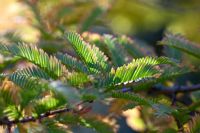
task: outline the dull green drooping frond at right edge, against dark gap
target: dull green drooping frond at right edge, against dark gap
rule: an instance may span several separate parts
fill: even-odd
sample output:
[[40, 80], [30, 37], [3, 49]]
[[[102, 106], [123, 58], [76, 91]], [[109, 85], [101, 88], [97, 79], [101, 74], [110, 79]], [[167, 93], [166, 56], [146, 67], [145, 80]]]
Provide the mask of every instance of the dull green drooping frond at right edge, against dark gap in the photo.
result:
[[200, 58], [200, 47], [180, 35], [167, 33], [165, 38], [160, 42], [162, 45], [167, 45], [175, 49], [186, 52], [194, 57]]

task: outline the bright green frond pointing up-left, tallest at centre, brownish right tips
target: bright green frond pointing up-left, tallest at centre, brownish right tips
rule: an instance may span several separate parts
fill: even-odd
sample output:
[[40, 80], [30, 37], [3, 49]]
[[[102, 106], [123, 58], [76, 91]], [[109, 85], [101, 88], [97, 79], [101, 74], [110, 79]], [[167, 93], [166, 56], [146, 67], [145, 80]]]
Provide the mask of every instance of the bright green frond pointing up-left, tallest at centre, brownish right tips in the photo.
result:
[[89, 45], [75, 32], [68, 32], [65, 36], [91, 73], [107, 72], [110, 70], [107, 57], [99, 48]]

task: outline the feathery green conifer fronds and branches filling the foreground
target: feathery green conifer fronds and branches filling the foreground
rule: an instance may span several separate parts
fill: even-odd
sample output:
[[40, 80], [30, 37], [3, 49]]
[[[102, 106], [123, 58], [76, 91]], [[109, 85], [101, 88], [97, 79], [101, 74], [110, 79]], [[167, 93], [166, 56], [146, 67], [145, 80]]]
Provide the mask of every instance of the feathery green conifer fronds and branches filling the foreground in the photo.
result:
[[[95, 41], [91, 36], [92, 33], [87, 37], [76, 32], [63, 34], [74, 56], [60, 51], [47, 54], [40, 45], [1, 43], [0, 53], [4, 58], [28, 65], [1, 71], [0, 125], [8, 132], [30, 123], [29, 129], [24, 127], [24, 130], [37, 130], [42, 125], [45, 132], [62, 133], [69, 130], [64, 125], [81, 125], [111, 133], [112, 126], [90, 116], [90, 112], [93, 102], [112, 98], [127, 101], [119, 108], [121, 111], [140, 106], [151, 108], [156, 118], [172, 117], [177, 123], [174, 132], [200, 131], [200, 101], [185, 105], [177, 97], [179, 93], [198, 91], [200, 84], [171, 87], [165, 84], [199, 71], [199, 67], [183, 65], [182, 60], [170, 54], [179, 50], [199, 60], [200, 48], [196, 44], [180, 35], [166, 33], [159, 42], [165, 47], [165, 56], [158, 57], [152, 49], [126, 36], [98, 35]], [[1, 70], [6, 66], [5, 62]], [[70, 95], [75, 91], [66, 96], [52, 84], [66, 84], [78, 91], [78, 98], [74, 102]], [[189, 127], [185, 129], [183, 125], [187, 123]]]

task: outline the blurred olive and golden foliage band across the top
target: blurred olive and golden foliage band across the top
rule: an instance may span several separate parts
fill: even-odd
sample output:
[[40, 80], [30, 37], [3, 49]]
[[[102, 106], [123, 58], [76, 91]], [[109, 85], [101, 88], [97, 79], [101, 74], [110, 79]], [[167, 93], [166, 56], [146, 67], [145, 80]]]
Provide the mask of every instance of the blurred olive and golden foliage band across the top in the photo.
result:
[[136, 35], [164, 29], [200, 41], [198, 0], [2, 0], [1, 3], [0, 9], [4, 12], [1, 31], [16, 29], [17, 36], [27, 41], [50, 39], [51, 33], [59, 35], [58, 31], [63, 29], [101, 28]]

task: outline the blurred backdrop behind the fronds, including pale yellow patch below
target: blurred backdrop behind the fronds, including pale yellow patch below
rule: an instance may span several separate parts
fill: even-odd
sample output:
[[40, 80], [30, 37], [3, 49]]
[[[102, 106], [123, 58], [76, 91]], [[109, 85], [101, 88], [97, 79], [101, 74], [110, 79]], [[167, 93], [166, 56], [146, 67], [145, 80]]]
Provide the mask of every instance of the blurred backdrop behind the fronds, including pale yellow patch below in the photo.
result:
[[[153, 46], [158, 55], [163, 49], [157, 42], [165, 32], [200, 43], [200, 0], [0, 0], [0, 13], [0, 41], [33, 43], [48, 53], [63, 51], [62, 34], [72, 30], [80, 34], [126, 34]], [[115, 103], [109, 110], [117, 109]], [[124, 112], [118, 122], [105, 121], [115, 125], [118, 132], [144, 131], [139, 110]], [[170, 119], [154, 123], [162, 128], [160, 121], [164, 126]], [[80, 128], [74, 131], [89, 132]]]

